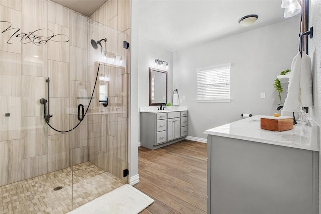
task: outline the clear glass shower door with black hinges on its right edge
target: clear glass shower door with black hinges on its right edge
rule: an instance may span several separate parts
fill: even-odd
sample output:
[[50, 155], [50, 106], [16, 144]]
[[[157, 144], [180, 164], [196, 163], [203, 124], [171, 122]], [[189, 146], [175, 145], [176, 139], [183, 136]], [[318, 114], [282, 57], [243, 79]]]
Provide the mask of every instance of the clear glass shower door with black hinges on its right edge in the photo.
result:
[[78, 109], [85, 114], [72, 137], [73, 209], [128, 183], [128, 35], [92, 20], [88, 25], [88, 58], [71, 68], [87, 72], [71, 80], [72, 122], [79, 122]]

